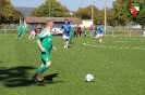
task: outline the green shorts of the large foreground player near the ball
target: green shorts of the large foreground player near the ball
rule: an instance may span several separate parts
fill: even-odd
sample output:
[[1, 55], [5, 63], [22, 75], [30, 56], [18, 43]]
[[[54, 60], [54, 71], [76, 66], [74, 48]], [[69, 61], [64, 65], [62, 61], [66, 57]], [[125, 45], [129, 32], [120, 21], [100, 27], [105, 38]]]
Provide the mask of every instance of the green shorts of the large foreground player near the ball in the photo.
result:
[[48, 62], [51, 62], [49, 52], [39, 51], [39, 54], [40, 54], [40, 57], [41, 57], [41, 64], [46, 64]]

